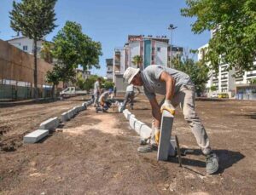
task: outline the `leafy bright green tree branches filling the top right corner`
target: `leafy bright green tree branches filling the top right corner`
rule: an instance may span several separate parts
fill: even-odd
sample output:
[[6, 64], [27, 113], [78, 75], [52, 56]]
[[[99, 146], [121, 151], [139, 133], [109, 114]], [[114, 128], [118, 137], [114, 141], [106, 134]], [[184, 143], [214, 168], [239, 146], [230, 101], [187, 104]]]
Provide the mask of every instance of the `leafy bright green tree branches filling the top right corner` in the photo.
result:
[[220, 60], [239, 72], [255, 68], [255, 0], [186, 0], [186, 3], [188, 7], [181, 9], [181, 14], [196, 17], [193, 32], [215, 31], [206, 54], [212, 69], [218, 72]]

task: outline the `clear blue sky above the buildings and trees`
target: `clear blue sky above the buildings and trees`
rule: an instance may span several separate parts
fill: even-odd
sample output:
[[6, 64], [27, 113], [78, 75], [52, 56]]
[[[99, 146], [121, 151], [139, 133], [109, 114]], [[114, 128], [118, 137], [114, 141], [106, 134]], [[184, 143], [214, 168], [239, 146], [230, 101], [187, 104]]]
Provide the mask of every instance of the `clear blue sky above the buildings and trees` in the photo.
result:
[[[0, 1], [0, 38], [7, 40], [16, 33], [9, 27], [9, 11], [12, 0]], [[16, 0], [20, 2], [20, 0]], [[167, 26], [177, 26], [173, 32], [173, 44], [187, 49], [197, 49], [207, 43], [209, 32], [195, 35], [191, 23], [195, 19], [181, 16], [185, 0], [58, 0], [55, 6], [56, 25], [46, 39], [51, 40], [66, 20], [76, 21], [83, 32], [102, 43], [101, 69], [92, 72], [106, 75], [106, 58], [113, 57], [113, 49], [122, 47], [128, 35], [153, 35], [170, 37]]]

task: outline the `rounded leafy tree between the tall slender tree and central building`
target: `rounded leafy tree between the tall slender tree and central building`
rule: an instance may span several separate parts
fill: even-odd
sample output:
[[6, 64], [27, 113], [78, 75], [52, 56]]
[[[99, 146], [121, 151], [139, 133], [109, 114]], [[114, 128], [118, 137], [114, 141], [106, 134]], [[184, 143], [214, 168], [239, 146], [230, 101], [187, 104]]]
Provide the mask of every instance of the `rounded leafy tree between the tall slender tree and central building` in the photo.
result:
[[102, 54], [102, 45], [83, 34], [82, 26], [78, 23], [67, 21], [53, 38], [53, 42], [52, 54], [64, 71], [61, 78], [64, 83], [72, 78], [74, 69], [79, 65], [84, 70], [92, 66], [99, 67], [97, 64], [99, 55]]

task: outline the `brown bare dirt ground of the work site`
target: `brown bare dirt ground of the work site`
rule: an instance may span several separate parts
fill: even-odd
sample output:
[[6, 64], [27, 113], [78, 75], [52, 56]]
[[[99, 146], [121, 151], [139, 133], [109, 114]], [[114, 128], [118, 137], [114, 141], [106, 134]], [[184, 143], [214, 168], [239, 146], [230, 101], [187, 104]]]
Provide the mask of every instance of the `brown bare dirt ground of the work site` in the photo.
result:
[[[26, 132], [81, 102], [77, 97], [0, 108], [0, 194], [255, 194], [255, 101], [196, 101], [219, 157], [216, 175], [206, 175], [205, 158], [178, 109], [172, 135], [183, 151], [193, 149], [183, 156], [183, 168], [177, 158], [157, 162], [156, 152], [137, 153], [139, 136], [123, 114], [96, 114], [92, 106], [44, 141], [22, 144]], [[143, 96], [131, 112], [150, 125]]]

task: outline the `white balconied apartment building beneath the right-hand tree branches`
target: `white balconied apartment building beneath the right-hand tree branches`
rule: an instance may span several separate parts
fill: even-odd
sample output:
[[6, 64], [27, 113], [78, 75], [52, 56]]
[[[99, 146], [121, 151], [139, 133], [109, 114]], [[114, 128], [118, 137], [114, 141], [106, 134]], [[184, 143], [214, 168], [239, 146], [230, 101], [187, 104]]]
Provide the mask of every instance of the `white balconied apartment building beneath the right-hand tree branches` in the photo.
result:
[[[204, 58], [207, 52], [208, 44], [199, 48], [198, 60]], [[251, 72], [239, 74], [234, 68], [228, 70], [229, 64], [224, 64], [220, 60], [218, 73], [210, 70], [209, 80], [207, 82], [207, 96], [212, 94], [227, 93], [229, 97], [235, 97], [241, 100], [256, 100], [256, 84], [252, 84], [252, 80], [256, 79], [256, 60], [254, 61], [255, 69]], [[209, 64], [208, 64], [209, 66]], [[211, 91], [214, 86], [216, 91]]]

